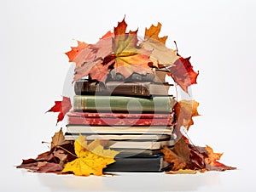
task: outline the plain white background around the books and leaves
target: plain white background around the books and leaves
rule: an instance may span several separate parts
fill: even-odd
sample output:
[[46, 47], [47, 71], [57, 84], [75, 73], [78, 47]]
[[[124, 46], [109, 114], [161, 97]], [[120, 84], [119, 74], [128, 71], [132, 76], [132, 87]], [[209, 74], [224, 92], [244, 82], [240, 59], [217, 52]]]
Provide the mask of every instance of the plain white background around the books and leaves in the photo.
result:
[[[112, 178], [35, 174], [15, 169], [48, 150], [41, 141], [57, 114], [71, 66], [63, 53], [74, 40], [95, 43], [125, 16], [129, 30], [163, 25], [167, 45], [192, 56], [200, 71], [193, 96], [200, 102], [189, 137], [224, 152], [230, 172], [196, 175], [119, 173]], [[1, 1], [1, 191], [253, 191], [255, 178], [255, 1]]]

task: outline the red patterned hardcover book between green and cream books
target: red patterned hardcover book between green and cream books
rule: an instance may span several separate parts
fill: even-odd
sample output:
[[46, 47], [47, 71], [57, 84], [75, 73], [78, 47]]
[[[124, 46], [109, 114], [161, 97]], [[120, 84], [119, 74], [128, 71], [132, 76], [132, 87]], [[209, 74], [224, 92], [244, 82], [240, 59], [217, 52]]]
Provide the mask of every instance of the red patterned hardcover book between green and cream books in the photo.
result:
[[[112, 115], [111, 115], [112, 114]], [[136, 114], [136, 116], [126, 113], [90, 113], [90, 112], [70, 112], [67, 114], [68, 124], [82, 125], [110, 125], [110, 126], [171, 126], [173, 121], [172, 114]]]

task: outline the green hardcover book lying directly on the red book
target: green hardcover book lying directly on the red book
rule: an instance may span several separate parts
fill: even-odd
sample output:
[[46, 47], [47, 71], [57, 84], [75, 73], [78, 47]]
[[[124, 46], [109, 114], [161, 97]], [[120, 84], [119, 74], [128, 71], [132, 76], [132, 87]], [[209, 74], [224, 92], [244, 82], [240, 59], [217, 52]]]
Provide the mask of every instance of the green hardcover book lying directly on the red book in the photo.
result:
[[175, 103], [172, 96], [154, 96], [145, 99], [126, 96], [74, 95], [73, 110], [171, 113]]

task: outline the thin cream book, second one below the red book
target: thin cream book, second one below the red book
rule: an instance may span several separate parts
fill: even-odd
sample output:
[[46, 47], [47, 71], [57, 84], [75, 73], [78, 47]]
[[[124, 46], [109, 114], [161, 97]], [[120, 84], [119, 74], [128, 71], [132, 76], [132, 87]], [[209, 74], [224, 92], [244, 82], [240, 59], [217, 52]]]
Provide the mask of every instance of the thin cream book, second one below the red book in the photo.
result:
[[[80, 133], [65, 133], [64, 137], [66, 140], [75, 140], [79, 138]], [[164, 140], [171, 139], [169, 134], [82, 134], [86, 137], [86, 140], [91, 141], [95, 139], [108, 139], [108, 140]]]

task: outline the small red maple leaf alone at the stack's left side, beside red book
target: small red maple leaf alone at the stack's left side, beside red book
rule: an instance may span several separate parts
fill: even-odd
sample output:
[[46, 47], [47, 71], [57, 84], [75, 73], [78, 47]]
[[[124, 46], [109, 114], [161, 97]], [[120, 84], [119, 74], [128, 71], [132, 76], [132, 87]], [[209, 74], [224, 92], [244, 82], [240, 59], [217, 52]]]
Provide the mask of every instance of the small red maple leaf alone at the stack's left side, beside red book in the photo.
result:
[[71, 108], [72, 104], [70, 102], [70, 98], [63, 96], [62, 101], [55, 101], [55, 105], [46, 112], [59, 112], [57, 120], [58, 123], [64, 119], [64, 116]]

